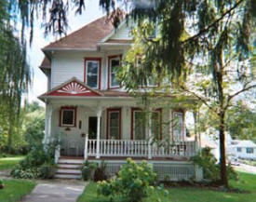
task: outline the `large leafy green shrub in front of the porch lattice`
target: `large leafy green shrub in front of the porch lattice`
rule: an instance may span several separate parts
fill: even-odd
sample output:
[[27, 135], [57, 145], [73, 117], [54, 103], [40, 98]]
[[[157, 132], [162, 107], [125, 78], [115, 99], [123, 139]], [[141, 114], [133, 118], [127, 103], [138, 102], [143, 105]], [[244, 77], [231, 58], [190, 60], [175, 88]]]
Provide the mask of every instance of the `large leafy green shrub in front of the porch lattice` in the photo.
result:
[[137, 165], [130, 158], [123, 165], [116, 178], [106, 182], [98, 182], [98, 193], [111, 197], [121, 195], [129, 202], [139, 202], [154, 191], [156, 174], [145, 161]]

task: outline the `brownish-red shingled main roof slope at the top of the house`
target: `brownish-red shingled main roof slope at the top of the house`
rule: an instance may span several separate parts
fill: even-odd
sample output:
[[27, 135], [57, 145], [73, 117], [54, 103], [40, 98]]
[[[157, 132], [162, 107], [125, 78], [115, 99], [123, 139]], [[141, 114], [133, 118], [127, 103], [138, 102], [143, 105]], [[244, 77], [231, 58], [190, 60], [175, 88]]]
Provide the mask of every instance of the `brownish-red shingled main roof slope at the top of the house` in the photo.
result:
[[72, 34], [68, 34], [56, 42], [50, 43], [47, 47], [44, 47], [43, 50], [56, 48], [96, 49], [101, 39], [110, 34], [113, 30], [114, 26], [112, 22], [105, 16], [88, 23], [81, 29]]

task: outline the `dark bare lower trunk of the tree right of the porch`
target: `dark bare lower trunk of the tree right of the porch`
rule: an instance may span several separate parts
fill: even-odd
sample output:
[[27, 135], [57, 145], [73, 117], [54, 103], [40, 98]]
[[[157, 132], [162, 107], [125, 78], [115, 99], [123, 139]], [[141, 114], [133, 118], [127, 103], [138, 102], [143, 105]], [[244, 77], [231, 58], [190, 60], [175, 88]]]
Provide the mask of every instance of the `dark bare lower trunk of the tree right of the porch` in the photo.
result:
[[226, 172], [226, 154], [225, 154], [225, 120], [224, 114], [220, 115], [219, 136], [220, 136], [220, 161], [221, 161], [221, 183], [224, 187], [228, 187], [228, 179]]

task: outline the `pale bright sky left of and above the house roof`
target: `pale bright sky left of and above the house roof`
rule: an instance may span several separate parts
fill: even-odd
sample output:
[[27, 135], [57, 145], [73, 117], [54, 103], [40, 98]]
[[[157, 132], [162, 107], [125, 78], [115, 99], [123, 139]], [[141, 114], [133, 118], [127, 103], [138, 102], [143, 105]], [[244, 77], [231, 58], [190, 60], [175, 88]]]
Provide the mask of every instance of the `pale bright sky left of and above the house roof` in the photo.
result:
[[[75, 10], [70, 11], [68, 15], [69, 30], [68, 34], [85, 26], [93, 20], [97, 20], [104, 15], [99, 7], [99, 1], [89, 0], [86, 1], [86, 10], [82, 15], [75, 15]], [[29, 89], [27, 100], [29, 102], [38, 101], [40, 105], [44, 106], [44, 102], [37, 99], [37, 97], [47, 92], [47, 76], [40, 70], [39, 66], [44, 59], [44, 53], [42, 48], [46, 47], [47, 44], [56, 40], [56, 37], [48, 35], [45, 37], [44, 28], [41, 27], [41, 20], [36, 20], [34, 25], [34, 40], [32, 47], [28, 50], [28, 61], [33, 71], [33, 82]], [[27, 34], [29, 41], [29, 34]]]

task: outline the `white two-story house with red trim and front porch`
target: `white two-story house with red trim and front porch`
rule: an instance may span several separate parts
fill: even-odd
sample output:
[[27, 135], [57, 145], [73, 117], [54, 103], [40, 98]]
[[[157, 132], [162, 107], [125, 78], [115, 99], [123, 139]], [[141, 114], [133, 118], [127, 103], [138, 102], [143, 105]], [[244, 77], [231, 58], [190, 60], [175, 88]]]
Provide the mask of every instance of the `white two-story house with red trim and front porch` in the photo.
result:
[[[140, 99], [116, 80], [115, 69], [132, 46], [129, 33], [127, 23], [115, 30], [103, 17], [42, 49], [46, 58], [40, 68], [48, 88], [39, 97], [47, 111], [44, 143], [61, 138], [56, 177], [78, 178], [79, 171], [72, 175], [72, 166], [63, 164], [75, 166], [84, 159], [103, 159], [115, 174], [127, 157], [147, 159], [162, 179], [195, 176], [189, 161], [195, 155], [195, 141], [186, 140], [185, 109], [152, 109], [149, 124], [143, 124]], [[175, 127], [173, 117], [178, 119]], [[171, 144], [154, 143], [153, 138]]]

